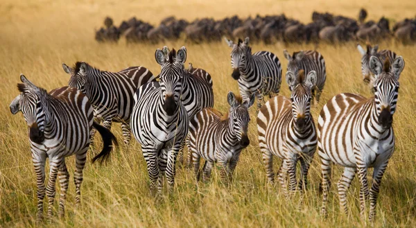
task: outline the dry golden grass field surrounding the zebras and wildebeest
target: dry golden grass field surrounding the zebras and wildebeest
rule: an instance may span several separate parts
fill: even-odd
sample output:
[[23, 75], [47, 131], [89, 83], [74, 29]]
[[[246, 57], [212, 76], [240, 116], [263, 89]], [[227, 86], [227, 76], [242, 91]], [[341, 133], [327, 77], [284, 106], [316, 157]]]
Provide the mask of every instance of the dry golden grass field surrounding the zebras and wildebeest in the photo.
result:
[[[142, 65], [159, 73], [155, 49], [165, 44], [176, 49], [187, 46], [188, 60], [194, 67], [206, 69], [214, 80], [215, 107], [227, 111], [229, 90], [238, 91], [231, 78], [229, 47], [224, 43], [184, 44], [181, 41], [163, 44], [126, 45], [97, 44], [94, 28], [101, 26], [106, 15], [119, 24], [121, 19], [137, 16], [157, 24], [169, 15], [179, 18], [222, 18], [234, 14], [279, 14], [301, 21], [310, 20], [313, 10], [356, 17], [361, 7], [367, 8], [370, 19], [382, 15], [392, 20], [414, 17], [416, 1], [11, 1], [0, 4], [0, 227], [35, 226], [36, 184], [31, 161], [26, 123], [21, 114], [12, 116], [8, 105], [17, 96], [19, 73], [36, 85], [51, 90], [67, 85], [69, 76], [61, 63], [77, 60], [89, 62], [99, 69], [117, 71]], [[416, 89], [415, 46], [385, 42], [381, 49], [392, 49], [404, 57], [406, 67], [400, 78], [400, 92], [394, 128], [397, 137], [395, 154], [381, 184], [377, 205], [376, 227], [416, 227]], [[286, 71], [283, 49], [289, 52], [313, 49], [312, 45], [253, 44], [253, 51], [267, 50], [277, 54]], [[327, 83], [322, 103], [313, 107], [315, 119], [325, 100], [349, 91], [371, 96], [363, 85], [360, 55], [355, 43], [340, 46], [318, 46], [327, 62]], [[289, 95], [286, 82], [281, 94]], [[329, 216], [320, 217], [321, 196], [318, 193], [320, 168], [315, 157], [309, 175], [310, 184], [303, 200], [295, 196], [286, 200], [279, 186], [266, 185], [266, 173], [257, 146], [255, 112], [251, 110], [250, 139], [252, 144], [241, 155], [234, 182], [224, 186], [214, 169], [212, 181], [194, 182], [189, 170], [179, 168], [175, 191], [155, 201], [148, 194], [148, 175], [139, 144], [121, 145], [114, 151], [107, 166], [88, 162], [82, 186], [83, 207], [73, 208], [75, 186], [72, 182], [74, 159], [67, 159], [71, 183], [66, 204], [66, 218], [44, 223], [46, 227], [361, 227], [369, 223], [359, 218], [358, 181], [349, 191], [349, 216], [339, 213], [336, 184], [331, 188]], [[121, 128], [114, 125], [114, 134], [122, 144]], [[89, 154], [89, 161], [92, 153]], [[277, 164], [277, 163], [275, 163]], [[277, 167], [275, 167], [277, 170]], [[333, 172], [333, 183], [340, 177], [340, 167]], [[59, 187], [57, 187], [59, 189]], [[58, 197], [55, 205], [58, 206]], [[45, 200], [45, 202], [47, 202]], [[302, 202], [302, 204], [300, 204]], [[46, 206], [46, 203], [45, 203]], [[58, 207], [56, 207], [57, 209]], [[57, 215], [55, 213], [55, 218]]]

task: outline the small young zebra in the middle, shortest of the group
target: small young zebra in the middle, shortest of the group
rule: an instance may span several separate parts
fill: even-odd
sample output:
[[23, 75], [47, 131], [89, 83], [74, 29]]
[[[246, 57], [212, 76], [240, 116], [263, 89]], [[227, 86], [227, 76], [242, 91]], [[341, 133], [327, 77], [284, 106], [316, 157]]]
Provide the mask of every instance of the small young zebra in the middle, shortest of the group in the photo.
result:
[[188, 148], [192, 154], [197, 181], [200, 178], [201, 157], [205, 159], [202, 175], [204, 181], [209, 179], [216, 162], [221, 166], [223, 180], [231, 179], [241, 150], [250, 144], [247, 134], [250, 121], [248, 108], [254, 103], [254, 94], [250, 100], [242, 100], [230, 91], [227, 99], [231, 107], [225, 116], [216, 109], [205, 108], [191, 119]]

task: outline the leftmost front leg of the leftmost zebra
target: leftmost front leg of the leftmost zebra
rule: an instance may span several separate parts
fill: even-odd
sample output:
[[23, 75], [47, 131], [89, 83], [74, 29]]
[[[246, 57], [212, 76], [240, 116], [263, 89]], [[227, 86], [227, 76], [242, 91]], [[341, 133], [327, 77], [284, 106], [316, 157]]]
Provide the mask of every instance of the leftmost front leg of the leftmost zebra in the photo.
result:
[[37, 221], [42, 221], [43, 215], [43, 200], [45, 198], [46, 187], [45, 187], [45, 162], [46, 154], [39, 152], [36, 154], [32, 153], [33, 166], [35, 167], [36, 173], [36, 185], [37, 185]]

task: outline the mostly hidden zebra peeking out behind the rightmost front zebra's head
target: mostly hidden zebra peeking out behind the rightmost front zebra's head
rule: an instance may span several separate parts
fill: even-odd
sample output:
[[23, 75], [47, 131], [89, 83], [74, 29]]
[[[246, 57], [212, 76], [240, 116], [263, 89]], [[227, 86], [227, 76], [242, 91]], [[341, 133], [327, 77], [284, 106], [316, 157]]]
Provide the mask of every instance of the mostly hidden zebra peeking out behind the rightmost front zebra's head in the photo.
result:
[[374, 74], [370, 70], [370, 57], [373, 55], [376, 56], [384, 62], [386, 59], [390, 60], [390, 64], [393, 64], [393, 60], [396, 59], [396, 53], [390, 50], [381, 50], [379, 51], [379, 45], [376, 44], [372, 47], [370, 44], [367, 44], [367, 51], [363, 49], [360, 44], [357, 44], [357, 49], [361, 54], [361, 73], [363, 73], [363, 81], [368, 85], [373, 85], [375, 80]]

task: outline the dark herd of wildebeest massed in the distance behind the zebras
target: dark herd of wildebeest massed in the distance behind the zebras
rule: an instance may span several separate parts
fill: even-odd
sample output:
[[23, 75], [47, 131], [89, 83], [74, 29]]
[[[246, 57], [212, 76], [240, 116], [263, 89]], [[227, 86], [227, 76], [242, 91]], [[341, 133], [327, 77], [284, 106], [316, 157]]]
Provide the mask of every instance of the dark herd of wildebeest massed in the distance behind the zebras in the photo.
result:
[[159, 26], [132, 17], [122, 21], [117, 27], [110, 17], [104, 20], [104, 27], [96, 30], [98, 42], [117, 42], [125, 37], [127, 42], [163, 42], [184, 37], [187, 42], [215, 42], [223, 36], [250, 37], [252, 42], [261, 41], [285, 43], [339, 43], [351, 40], [379, 42], [394, 38], [398, 42], [410, 44], [416, 41], [416, 17], [404, 19], [392, 26], [381, 17], [379, 21], [365, 21], [367, 11], [361, 9], [358, 19], [332, 15], [329, 12], [313, 12], [312, 21], [303, 24], [296, 19], [282, 15], [248, 17], [238, 16], [225, 19], [202, 18], [194, 21], [166, 17]]

